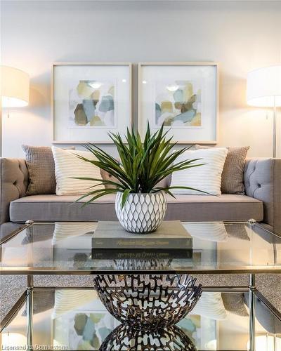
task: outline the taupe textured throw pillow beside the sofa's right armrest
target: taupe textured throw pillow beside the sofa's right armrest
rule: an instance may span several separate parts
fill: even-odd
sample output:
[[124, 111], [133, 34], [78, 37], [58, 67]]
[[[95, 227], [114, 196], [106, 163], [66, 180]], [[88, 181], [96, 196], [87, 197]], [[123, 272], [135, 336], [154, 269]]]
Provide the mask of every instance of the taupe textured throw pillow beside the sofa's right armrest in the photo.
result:
[[[195, 149], [209, 147], [195, 145]], [[223, 194], [244, 194], [244, 165], [249, 146], [228, 147], [226, 162], [221, 175], [221, 192]]]

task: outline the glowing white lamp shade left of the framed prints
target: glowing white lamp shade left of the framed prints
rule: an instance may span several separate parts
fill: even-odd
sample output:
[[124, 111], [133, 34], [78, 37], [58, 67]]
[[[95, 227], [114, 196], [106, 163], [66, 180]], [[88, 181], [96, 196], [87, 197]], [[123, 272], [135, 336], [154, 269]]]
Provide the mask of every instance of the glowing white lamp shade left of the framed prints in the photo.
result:
[[1, 100], [3, 107], [27, 106], [30, 100], [30, 77], [20, 69], [1, 66]]

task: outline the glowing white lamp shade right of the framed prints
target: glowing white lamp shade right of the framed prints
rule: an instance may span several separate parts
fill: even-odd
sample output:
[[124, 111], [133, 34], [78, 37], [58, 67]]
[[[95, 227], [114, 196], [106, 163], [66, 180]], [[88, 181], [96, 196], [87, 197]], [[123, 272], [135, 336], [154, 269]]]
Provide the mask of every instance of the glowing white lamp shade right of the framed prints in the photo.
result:
[[281, 106], [281, 65], [248, 73], [247, 103], [251, 106]]

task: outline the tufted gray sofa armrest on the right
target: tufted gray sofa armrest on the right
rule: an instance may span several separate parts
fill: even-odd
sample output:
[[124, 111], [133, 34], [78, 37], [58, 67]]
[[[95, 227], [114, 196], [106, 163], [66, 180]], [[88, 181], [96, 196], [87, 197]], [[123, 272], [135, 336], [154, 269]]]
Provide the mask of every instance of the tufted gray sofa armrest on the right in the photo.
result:
[[245, 193], [263, 201], [263, 222], [281, 234], [281, 159], [247, 159]]

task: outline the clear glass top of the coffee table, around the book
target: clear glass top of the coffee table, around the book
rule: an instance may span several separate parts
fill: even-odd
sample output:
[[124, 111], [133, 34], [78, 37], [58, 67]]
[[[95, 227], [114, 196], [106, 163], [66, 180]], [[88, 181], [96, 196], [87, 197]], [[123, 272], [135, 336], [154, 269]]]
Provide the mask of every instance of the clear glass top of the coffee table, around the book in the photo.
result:
[[259, 224], [183, 225], [192, 235], [192, 249], [184, 257], [173, 251], [96, 257], [91, 239], [97, 223], [33, 223], [2, 242], [0, 273], [281, 273], [281, 238]]

